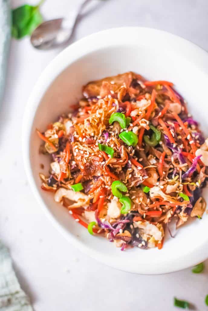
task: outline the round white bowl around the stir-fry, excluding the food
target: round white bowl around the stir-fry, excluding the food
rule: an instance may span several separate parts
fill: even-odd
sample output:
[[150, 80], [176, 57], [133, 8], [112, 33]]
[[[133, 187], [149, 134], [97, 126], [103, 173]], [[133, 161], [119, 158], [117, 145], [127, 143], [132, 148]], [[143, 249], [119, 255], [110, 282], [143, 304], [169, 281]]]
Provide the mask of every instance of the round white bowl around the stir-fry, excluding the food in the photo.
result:
[[[91, 236], [67, 210], [42, 191], [40, 163], [48, 171], [49, 158], [39, 155], [36, 128], [69, 110], [88, 81], [135, 71], [150, 80], [168, 80], [188, 101], [188, 109], [208, 134], [206, 117], [208, 54], [180, 37], [148, 28], [117, 28], [95, 33], [67, 47], [41, 74], [25, 109], [23, 156], [28, 180], [40, 206], [55, 227], [76, 247], [111, 267], [140, 274], [162, 274], [193, 266], [208, 257], [208, 215], [167, 237], [161, 250], [138, 248], [124, 252], [113, 243]], [[206, 195], [206, 191], [204, 191]], [[206, 197], [206, 196], [205, 196]]]

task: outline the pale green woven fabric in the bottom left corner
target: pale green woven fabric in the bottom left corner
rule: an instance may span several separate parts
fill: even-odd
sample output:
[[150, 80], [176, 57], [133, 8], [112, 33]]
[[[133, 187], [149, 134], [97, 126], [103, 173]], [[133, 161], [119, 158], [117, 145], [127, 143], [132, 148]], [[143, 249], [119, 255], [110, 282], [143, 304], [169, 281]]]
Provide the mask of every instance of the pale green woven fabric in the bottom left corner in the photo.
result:
[[0, 241], [0, 310], [33, 311], [12, 268], [10, 254]]

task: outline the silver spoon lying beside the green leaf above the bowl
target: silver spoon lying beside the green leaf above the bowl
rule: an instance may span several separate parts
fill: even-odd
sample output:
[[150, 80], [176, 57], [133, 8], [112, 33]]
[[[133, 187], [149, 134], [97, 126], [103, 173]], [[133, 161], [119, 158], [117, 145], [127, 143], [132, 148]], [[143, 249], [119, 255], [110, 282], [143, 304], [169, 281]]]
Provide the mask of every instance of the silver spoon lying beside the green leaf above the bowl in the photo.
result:
[[34, 48], [49, 50], [65, 45], [72, 35], [80, 11], [89, 1], [82, 2], [70, 12], [67, 18], [58, 18], [41, 23], [30, 37], [30, 42]]

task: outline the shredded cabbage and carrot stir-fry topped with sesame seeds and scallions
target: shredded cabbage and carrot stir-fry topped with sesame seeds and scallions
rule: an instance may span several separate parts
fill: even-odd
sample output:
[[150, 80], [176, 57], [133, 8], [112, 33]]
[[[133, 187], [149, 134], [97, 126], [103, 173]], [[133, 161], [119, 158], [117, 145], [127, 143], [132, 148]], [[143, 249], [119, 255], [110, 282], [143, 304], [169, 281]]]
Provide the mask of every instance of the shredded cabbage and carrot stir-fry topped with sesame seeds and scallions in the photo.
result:
[[37, 130], [51, 156], [41, 188], [121, 250], [162, 248], [165, 227], [172, 235], [170, 224], [206, 209], [208, 139], [171, 82], [127, 72], [89, 82], [83, 96]]

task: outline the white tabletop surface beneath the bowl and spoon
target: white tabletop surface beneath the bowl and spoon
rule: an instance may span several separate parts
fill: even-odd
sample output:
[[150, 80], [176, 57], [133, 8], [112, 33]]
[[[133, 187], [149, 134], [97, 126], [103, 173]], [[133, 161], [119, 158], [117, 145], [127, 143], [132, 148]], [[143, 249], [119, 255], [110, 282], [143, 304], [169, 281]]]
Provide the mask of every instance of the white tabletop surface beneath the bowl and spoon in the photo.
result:
[[[12, 5], [24, 2], [14, 0]], [[61, 16], [73, 2], [46, 1], [42, 12], [47, 19]], [[207, 16], [207, 0], [102, 1], [82, 18], [73, 40], [115, 26], [147, 26], [170, 31], [208, 50]], [[34, 50], [28, 38], [12, 40], [0, 112], [0, 238], [10, 248], [17, 276], [34, 309], [166, 311], [176, 310], [176, 296], [195, 304], [196, 310], [206, 310], [208, 261], [200, 275], [190, 269], [162, 276], [113, 270], [73, 248], [37, 205], [24, 173], [21, 122], [34, 83], [57, 53]]]

